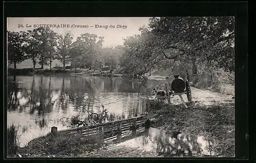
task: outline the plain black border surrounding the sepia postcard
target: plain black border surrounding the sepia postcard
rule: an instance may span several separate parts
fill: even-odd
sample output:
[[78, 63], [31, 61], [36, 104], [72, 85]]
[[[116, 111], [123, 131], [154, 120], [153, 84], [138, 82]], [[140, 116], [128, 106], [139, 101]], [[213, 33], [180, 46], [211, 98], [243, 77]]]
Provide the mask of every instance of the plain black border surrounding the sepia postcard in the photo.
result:
[[[248, 131], [248, 3], [246, 2], [4, 2], [4, 133], [7, 129], [7, 17], [140, 17], [140, 16], [235, 16], [235, 72], [236, 72], [236, 157], [249, 158]], [[6, 137], [4, 135], [4, 137]], [[4, 140], [3, 140], [4, 141]], [[6, 141], [4, 141], [6, 147]], [[5, 151], [5, 148], [4, 148]], [[13, 160], [6, 157], [4, 158]], [[17, 158], [15, 158], [17, 159]], [[44, 160], [47, 158], [23, 158]], [[71, 160], [71, 158], [51, 158]], [[97, 158], [72, 158], [96, 160]], [[98, 158], [106, 160], [143, 160], [159, 158]], [[161, 158], [162, 159], [162, 158]], [[161, 161], [186, 159], [234, 158], [165, 158]]]

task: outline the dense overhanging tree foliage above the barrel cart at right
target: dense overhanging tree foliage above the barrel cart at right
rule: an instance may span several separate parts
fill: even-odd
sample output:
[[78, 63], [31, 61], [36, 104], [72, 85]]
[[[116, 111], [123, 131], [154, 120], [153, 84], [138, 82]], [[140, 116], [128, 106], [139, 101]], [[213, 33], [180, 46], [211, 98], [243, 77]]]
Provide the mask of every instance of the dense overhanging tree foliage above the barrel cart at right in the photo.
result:
[[208, 87], [219, 84], [218, 72], [234, 72], [233, 17], [152, 17], [140, 31], [124, 39], [128, 74], [157, 69], [186, 77], [187, 68], [194, 85]]

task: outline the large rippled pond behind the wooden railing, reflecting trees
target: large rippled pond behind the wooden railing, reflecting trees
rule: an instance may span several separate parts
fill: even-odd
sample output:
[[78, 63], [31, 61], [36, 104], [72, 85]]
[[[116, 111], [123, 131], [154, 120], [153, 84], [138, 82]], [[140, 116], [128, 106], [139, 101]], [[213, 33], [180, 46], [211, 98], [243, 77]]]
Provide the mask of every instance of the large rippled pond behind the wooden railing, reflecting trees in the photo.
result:
[[123, 118], [143, 115], [148, 95], [146, 86], [125, 78], [9, 76], [7, 122], [27, 128], [20, 137], [20, 145], [24, 146], [50, 132], [53, 126], [67, 129], [59, 121], [61, 118], [77, 115], [85, 108], [98, 112], [101, 103]]

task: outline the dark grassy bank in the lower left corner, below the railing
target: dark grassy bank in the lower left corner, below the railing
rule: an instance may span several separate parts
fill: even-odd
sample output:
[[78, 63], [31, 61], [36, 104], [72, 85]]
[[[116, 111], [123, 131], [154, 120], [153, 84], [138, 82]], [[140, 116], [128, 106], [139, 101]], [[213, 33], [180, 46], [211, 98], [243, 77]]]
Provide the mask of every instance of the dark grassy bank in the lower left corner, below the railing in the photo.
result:
[[18, 127], [13, 125], [8, 128], [8, 157], [77, 157], [81, 153], [91, 152], [105, 145], [100, 135], [82, 137], [49, 133], [20, 148], [17, 130]]

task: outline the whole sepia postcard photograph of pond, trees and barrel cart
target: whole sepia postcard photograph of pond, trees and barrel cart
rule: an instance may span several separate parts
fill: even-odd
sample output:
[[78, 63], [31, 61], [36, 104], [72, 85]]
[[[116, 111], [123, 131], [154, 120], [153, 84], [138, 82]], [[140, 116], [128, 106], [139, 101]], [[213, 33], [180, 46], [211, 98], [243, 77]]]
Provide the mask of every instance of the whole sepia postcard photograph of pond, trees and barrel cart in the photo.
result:
[[7, 157], [235, 157], [234, 17], [8, 17]]

